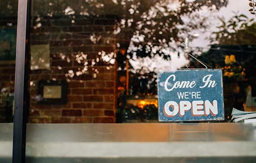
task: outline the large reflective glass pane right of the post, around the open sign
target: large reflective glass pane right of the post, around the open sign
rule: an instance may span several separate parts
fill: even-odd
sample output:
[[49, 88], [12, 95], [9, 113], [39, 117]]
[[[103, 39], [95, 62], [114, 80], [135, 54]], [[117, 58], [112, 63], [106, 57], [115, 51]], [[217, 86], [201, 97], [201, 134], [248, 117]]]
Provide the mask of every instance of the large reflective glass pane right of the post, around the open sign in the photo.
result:
[[31, 123], [158, 122], [157, 74], [223, 71], [225, 122], [255, 110], [251, 1], [32, 1]]

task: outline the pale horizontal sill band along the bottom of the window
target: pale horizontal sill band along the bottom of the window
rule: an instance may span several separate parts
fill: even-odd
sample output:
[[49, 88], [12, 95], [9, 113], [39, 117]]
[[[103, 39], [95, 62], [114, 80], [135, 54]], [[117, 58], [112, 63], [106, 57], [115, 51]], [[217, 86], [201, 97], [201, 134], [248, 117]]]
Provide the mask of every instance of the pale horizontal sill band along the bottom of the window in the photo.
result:
[[[10, 124], [1, 125], [12, 129]], [[33, 162], [191, 159], [250, 162], [256, 158], [256, 128], [249, 123], [28, 124], [27, 127], [26, 155]], [[9, 140], [0, 136], [3, 143], [0, 160], [11, 157], [10, 150], [6, 150], [12, 149], [12, 131], [8, 131]]]

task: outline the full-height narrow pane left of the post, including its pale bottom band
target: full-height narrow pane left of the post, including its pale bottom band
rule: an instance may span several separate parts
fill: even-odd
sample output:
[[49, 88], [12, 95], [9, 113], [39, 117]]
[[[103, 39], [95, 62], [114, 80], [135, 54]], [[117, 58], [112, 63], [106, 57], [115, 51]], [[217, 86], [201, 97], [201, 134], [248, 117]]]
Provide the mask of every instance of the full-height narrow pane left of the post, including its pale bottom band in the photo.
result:
[[12, 161], [17, 1], [0, 3], [0, 162]]

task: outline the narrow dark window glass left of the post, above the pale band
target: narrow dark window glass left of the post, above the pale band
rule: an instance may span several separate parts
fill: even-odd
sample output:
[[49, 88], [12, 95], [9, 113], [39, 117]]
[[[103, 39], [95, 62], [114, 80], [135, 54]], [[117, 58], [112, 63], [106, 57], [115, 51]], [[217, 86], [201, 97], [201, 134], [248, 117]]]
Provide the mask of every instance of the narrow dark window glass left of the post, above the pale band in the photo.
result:
[[0, 123], [13, 122], [17, 1], [0, 5]]

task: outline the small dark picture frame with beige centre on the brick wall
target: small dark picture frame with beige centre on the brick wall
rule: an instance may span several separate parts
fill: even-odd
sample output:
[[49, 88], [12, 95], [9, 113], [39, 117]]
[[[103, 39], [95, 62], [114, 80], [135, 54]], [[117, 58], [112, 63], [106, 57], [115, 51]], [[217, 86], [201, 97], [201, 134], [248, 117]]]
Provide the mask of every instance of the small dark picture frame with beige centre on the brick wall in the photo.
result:
[[67, 87], [66, 80], [39, 80], [38, 94], [40, 100], [38, 103], [44, 104], [65, 104], [67, 103]]

